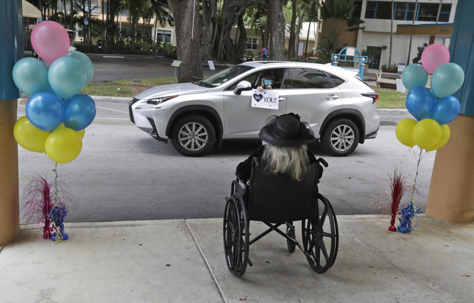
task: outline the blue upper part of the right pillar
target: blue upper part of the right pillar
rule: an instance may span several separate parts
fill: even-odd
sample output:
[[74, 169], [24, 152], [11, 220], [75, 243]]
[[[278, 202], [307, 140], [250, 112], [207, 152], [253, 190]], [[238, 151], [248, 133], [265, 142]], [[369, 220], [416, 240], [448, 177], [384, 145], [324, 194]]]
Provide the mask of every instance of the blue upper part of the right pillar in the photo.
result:
[[464, 69], [464, 85], [453, 94], [461, 102], [461, 114], [474, 116], [474, 1], [459, 0], [449, 44], [450, 61]]

